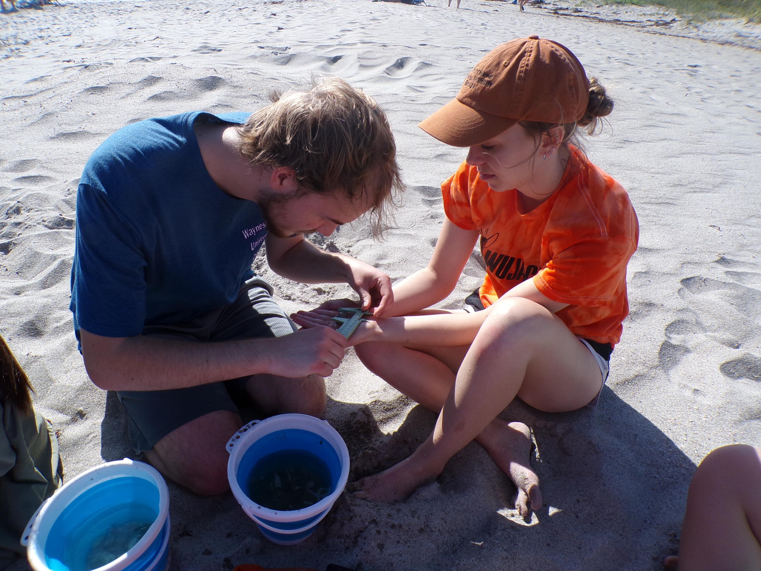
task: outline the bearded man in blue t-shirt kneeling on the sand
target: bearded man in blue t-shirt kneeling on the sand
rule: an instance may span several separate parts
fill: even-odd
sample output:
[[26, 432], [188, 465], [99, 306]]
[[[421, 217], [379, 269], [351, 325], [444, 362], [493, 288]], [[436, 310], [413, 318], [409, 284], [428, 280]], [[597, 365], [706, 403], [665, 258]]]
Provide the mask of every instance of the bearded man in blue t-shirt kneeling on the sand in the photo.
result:
[[135, 451], [196, 493], [228, 488], [232, 395], [267, 413], [319, 416], [346, 340], [296, 330], [253, 274], [346, 282], [384, 314], [390, 279], [303, 234], [365, 212], [374, 230], [401, 190], [383, 110], [339, 78], [251, 116], [185, 113], [133, 123], [94, 152], [77, 194], [75, 333], [88, 375], [117, 391]]

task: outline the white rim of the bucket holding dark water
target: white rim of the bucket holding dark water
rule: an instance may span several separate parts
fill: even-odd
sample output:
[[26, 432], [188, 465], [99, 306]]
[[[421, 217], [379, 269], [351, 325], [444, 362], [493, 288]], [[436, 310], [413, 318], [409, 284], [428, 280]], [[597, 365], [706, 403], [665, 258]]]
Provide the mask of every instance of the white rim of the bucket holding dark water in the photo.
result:
[[[292, 423], [294, 420], [297, 420], [300, 423], [310, 424], [315, 428], [323, 429], [327, 432], [328, 435], [331, 436], [330, 445], [333, 446], [333, 450], [336, 451], [336, 454], [341, 461], [341, 475], [339, 477], [338, 483], [336, 483], [336, 490], [333, 490], [333, 493], [331, 493], [330, 496], [325, 496], [323, 499], [320, 499], [319, 502], [306, 508], [281, 512], [266, 508], [265, 506], [260, 506], [254, 502], [253, 499], [250, 499], [250, 497], [247, 496], [247, 494], [240, 488], [240, 484], [237, 481], [237, 464], [239, 464], [240, 458], [243, 458], [243, 455], [246, 453], [248, 448], [250, 448], [253, 442], [256, 442], [255, 440], [250, 439], [250, 434], [266, 436], [272, 432], [279, 432], [280, 430], [304, 430], [299, 426], [292, 426], [292, 424], [291, 426], [281, 426], [283, 424], [287, 425], [288, 423]], [[336, 429], [333, 428], [333, 426], [330, 426], [330, 423], [328, 423], [327, 420], [321, 420], [315, 416], [309, 416], [308, 414], [278, 414], [275, 416], [270, 416], [264, 420], [253, 420], [252, 422], [241, 426], [240, 429], [237, 430], [234, 435], [232, 435], [225, 448], [230, 454], [230, 458], [228, 459], [228, 481], [230, 483], [230, 489], [232, 490], [233, 496], [235, 496], [235, 499], [237, 499], [237, 502], [240, 504], [240, 506], [244, 507], [244, 511], [247, 512], [247, 507], [248, 509], [251, 509], [251, 506], [253, 506], [253, 509], [256, 509], [256, 515], [259, 515], [261, 518], [267, 519], [269, 521], [288, 523], [298, 522], [302, 519], [314, 518], [314, 516], [319, 515], [320, 512], [323, 512], [323, 510], [330, 510], [333, 507], [336, 499], [338, 499], [339, 496], [343, 493], [346, 482], [349, 481], [349, 448], [346, 448], [346, 443], [344, 442], [342, 436]], [[254, 518], [253, 515], [250, 515], [250, 517], [256, 520], [259, 519]], [[257, 521], [256, 523], [260, 522]], [[314, 524], [316, 525], [317, 522], [314, 522]], [[312, 523], [309, 525], [312, 525]], [[276, 532], [288, 533], [288, 530], [276, 530]], [[100, 571], [100, 569], [98, 571]]]

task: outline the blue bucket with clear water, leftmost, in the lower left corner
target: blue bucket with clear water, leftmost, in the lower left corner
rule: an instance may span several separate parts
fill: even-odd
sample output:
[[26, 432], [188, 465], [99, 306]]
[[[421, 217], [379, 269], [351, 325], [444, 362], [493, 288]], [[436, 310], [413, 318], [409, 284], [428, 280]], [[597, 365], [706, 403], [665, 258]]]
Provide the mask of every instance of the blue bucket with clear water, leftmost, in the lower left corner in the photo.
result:
[[[148, 464], [124, 459], [65, 483], [33, 516], [21, 544], [34, 571], [164, 571], [169, 528], [164, 478]], [[120, 542], [139, 534], [119, 553]]]

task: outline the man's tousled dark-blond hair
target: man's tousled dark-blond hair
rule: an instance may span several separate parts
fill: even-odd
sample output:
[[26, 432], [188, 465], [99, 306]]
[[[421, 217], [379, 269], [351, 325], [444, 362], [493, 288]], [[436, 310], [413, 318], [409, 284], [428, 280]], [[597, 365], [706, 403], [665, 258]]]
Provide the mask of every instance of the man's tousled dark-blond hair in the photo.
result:
[[404, 190], [386, 113], [342, 78], [312, 78], [305, 90], [273, 91], [272, 104], [237, 128], [251, 164], [290, 167], [303, 192], [369, 198], [371, 229], [381, 238]]

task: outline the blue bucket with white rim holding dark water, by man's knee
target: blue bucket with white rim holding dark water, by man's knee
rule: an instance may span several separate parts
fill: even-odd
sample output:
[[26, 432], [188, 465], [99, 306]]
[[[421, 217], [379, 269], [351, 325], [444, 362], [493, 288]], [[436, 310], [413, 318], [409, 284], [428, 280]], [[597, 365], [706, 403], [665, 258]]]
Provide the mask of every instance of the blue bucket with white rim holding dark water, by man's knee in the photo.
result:
[[[228, 480], [235, 499], [264, 537], [276, 544], [298, 544], [313, 534], [349, 479], [349, 450], [345, 442], [326, 420], [314, 416], [280, 414], [254, 420], [233, 435], [227, 448]], [[311, 452], [325, 462], [330, 471], [330, 494], [312, 506], [292, 511], [276, 511], [250, 499], [244, 490], [256, 462], [282, 450]]]

